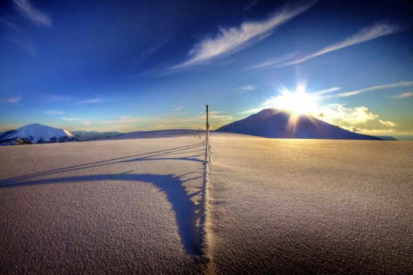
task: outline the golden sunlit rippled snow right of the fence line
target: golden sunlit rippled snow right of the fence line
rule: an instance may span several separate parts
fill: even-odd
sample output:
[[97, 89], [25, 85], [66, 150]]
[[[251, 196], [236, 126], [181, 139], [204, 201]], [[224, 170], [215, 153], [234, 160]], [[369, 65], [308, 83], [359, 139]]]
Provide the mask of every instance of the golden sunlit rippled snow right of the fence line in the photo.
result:
[[211, 271], [412, 274], [412, 142], [210, 142]]

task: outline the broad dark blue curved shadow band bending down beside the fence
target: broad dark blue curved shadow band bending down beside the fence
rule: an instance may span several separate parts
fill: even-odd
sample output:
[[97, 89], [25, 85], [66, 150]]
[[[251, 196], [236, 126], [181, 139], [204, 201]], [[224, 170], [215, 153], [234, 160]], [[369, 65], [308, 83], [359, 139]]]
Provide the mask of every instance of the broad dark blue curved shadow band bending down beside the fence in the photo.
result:
[[[184, 250], [191, 256], [198, 254], [198, 228], [196, 220], [200, 213], [200, 206], [195, 206], [180, 180], [181, 176], [174, 175], [153, 175], [153, 174], [131, 174], [130, 172], [114, 175], [89, 175], [76, 177], [57, 177], [54, 179], [36, 179], [31, 181], [21, 181], [12, 184], [4, 184], [1, 187], [28, 186], [34, 184], [60, 184], [74, 183], [79, 181], [145, 181], [160, 188], [167, 195], [168, 201], [172, 205], [172, 210], [176, 213], [176, 223], [178, 233], [184, 246]], [[194, 177], [193, 179], [198, 179]], [[189, 179], [188, 179], [189, 180]]]

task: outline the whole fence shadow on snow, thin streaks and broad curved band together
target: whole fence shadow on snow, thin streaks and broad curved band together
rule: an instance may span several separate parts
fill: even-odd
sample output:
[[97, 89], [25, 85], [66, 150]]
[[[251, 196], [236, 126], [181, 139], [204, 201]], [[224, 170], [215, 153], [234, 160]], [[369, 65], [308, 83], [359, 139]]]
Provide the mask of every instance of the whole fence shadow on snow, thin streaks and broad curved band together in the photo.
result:
[[[198, 195], [200, 191], [194, 192], [191, 195], [187, 194], [183, 183], [185, 181], [199, 179], [202, 175], [198, 177], [193, 177], [182, 181], [180, 178], [184, 175], [153, 175], [153, 174], [133, 174], [129, 172], [119, 173], [119, 174], [103, 174], [103, 175], [86, 175], [86, 176], [73, 176], [73, 177], [56, 177], [52, 179], [35, 179], [36, 177], [41, 177], [45, 175], [52, 175], [56, 173], [68, 172], [79, 169], [93, 168], [96, 166], [104, 166], [111, 164], [118, 164], [122, 162], [139, 162], [139, 161], [149, 161], [158, 159], [171, 159], [171, 160], [184, 160], [193, 162], [202, 162], [199, 157], [200, 155], [191, 155], [185, 157], [166, 157], [167, 155], [176, 155], [179, 153], [190, 153], [193, 151], [186, 151], [191, 148], [196, 148], [202, 146], [203, 142], [200, 144], [193, 144], [189, 146], [182, 146], [178, 148], [171, 148], [163, 151], [156, 151], [151, 153], [145, 153], [140, 155], [132, 155], [129, 157], [119, 157], [116, 159], [109, 159], [101, 162], [92, 162], [89, 164], [81, 164], [77, 166], [70, 166], [67, 168], [59, 168], [55, 170], [48, 170], [43, 173], [33, 173], [30, 175], [23, 175], [21, 177], [12, 177], [9, 179], [4, 179], [0, 181], [0, 188], [12, 188], [17, 186], [28, 186], [35, 184], [59, 184], [59, 183], [71, 183], [71, 182], [82, 182], [82, 181], [144, 181], [149, 182], [157, 186], [160, 190], [165, 192], [167, 200], [171, 203], [172, 210], [176, 213], [176, 223], [178, 225], [178, 233], [180, 235], [182, 245], [184, 246], [187, 254], [195, 256], [198, 254], [198, 228], [196, 221], [200, 218], [200, 205], [195, 206], [195, 203], [191, 201], [191, 197]], [[184, 151], [184, 152], [181, 152]], [[137, 157], [135, 159], [127, 159], [130, 157]], [[193, 173], [193, 172], [192, 172]], [[185, 174], [189, 175], [191, 173]]]

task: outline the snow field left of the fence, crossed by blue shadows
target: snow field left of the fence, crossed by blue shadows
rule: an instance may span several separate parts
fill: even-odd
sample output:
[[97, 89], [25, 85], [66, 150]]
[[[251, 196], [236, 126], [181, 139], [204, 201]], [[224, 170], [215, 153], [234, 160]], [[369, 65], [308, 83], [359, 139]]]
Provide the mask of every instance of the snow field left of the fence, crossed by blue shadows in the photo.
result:
[[1, 272], [200, 272], [199, 139], [1, 148]]

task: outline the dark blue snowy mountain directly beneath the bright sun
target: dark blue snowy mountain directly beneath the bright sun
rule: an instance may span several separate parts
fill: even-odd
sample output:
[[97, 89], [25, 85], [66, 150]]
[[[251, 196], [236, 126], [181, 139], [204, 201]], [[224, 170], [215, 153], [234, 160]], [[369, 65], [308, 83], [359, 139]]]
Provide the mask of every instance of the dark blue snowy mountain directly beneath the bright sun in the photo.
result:
[[295, 115], [290, 111], [277, 109], [264, 109], [248, 118], [222, 126], [217, 131], [272, 138], [381, 140], [379, 137], [341, 129], [310, 115]]

